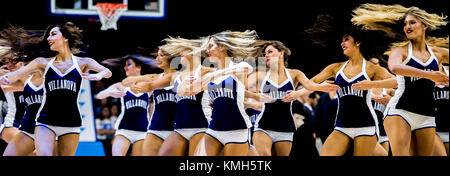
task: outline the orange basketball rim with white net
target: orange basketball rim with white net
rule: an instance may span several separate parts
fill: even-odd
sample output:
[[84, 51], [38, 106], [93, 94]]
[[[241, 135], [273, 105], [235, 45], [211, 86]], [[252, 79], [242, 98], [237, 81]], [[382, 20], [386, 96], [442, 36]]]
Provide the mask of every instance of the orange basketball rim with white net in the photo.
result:
[[97, 3], [95, 6], [97, 6], [97, 12], [102, 23], [100, 29], [103, 31], [108, 29], [117, 30], [117, 20], [128, 7], [122, 3]]

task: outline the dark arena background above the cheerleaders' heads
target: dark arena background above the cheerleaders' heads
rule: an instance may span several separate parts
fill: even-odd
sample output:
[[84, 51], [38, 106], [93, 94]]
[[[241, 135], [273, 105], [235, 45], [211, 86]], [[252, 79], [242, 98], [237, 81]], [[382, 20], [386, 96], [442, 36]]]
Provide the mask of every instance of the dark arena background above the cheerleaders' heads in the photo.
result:
[[[302, 32], [313, 25], [318, 14], [330, 14], [337, 20], [337, 24], [344, 24], [350, 20], [351, 10], [360, 4], [398, 3], [448, 15], [448, 9], [442, 6], [442, 1], [436, 0], [225, 0], [220, 2], [165, 0], [163, 18], [121, 18], [117, 24], [117, 31], [101, 31], [101, 23], [92, 18], [50, 14], [49, 2], [49, 0], [2, 1], [0, 27], [4, 28], [12, 24], [26, 29], [44, 30], [49, 24], [72, 21], [84, 31], [83, 39], [88, 45], [85, 55], [98, 61], [133, 53], [149, 54], [149, 50], [142, 53], [142, 50], [137, 48], [148, 48], [154, 51], [161, 44], [161, 40], [167, 36], [197, 38], [224, 30], [250, 29], [256, 30], [261, 39], [283, 42], [292, 51], [289, 67], [302, 70], [309, 78], [330, 63], [346, 60], [341, 54], [340, 40], [336, 40], [327, 47], [318, 47], [302, 36]], [[445, 27], [429, 35], [446, 36], [448, 28]], [[387, 46], [392, 41], [377, 39], [374, 42], [385, 43]], [[125, 77], [123, 72], [115, 69], [112, 71], [113, 76], [103, 81], [105, 87]], [[95, 83], [91, 82], [91, 85], [93, 84]], [[95, 94], [95, 90], [92, 94]]]

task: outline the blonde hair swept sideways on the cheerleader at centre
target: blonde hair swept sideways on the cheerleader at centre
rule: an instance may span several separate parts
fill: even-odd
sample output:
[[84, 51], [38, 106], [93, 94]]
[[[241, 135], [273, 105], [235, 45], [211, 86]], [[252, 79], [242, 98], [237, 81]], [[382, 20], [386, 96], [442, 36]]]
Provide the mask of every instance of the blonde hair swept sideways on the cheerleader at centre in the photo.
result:
[[218, 45], [226, 46], [227, 53], [231, 57], [247, 58], [253, 57], [257, 52], [254, 46], [258, 35], [254, 30], [239, 31], [223, 31], [206, 37], [202, 45], [203, 51], [208, 47], [209, 40], [213, 38]]

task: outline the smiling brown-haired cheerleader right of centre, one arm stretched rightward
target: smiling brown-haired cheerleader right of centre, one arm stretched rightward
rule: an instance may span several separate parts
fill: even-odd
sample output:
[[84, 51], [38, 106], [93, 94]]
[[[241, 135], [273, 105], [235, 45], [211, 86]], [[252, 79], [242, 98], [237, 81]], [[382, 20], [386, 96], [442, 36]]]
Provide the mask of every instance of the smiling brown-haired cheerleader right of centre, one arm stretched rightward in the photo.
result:
[[262, 81], [257, 81], [261, 82], [259, 92], [268, 95], [273, 101], [264, 104], [263, 110], [256, 120], [253, 142], [256, 150], [262, 156], [288, 156], [292, 147], [293, 135], [297, 129], [292, 115], [293, 100], [290, 98], [296, 97], [295, 94], [298, 92], [292, 93], [292, 95], [290, 93], [298, 84], [304, 85], [309, 90], [325, 92], [336, 91], [339, 87], [326, 82], [314, 83], [300, 70], [287, 69], [288, 56], [291, 51], [279, 41], [266, 41], [262, 50], [269, 68], [259, 76], [259, 78], [263, 78]]

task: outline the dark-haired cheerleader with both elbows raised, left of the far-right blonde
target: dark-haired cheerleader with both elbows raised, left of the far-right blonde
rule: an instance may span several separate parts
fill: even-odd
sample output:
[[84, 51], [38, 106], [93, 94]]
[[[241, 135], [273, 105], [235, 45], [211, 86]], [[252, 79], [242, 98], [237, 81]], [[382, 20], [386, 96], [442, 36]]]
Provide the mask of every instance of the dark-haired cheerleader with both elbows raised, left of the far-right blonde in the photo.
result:
[[363, 80], [382, 80], [393, 77], [382, 67], [367, 62], [360, 51], [361, 32], [355, 28], [344, 31], [341, 47], [346, 62], [327, 66], [311, 80], [324, 81], [335, 77], [340, 89], [334, 131], [326, 139], [321, 156], [343, 155], [353, 141], [355, 156], [371, 156], [377, 144], [377, 121], [371, 104], [371, 91], [358, 91], [352, 85]]

